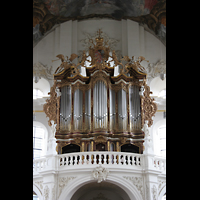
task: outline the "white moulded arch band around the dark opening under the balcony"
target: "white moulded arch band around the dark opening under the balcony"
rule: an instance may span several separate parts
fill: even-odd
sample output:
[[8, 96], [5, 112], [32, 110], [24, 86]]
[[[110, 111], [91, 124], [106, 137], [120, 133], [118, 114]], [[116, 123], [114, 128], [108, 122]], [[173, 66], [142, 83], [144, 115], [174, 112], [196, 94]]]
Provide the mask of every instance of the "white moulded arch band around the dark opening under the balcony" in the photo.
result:
[[[79, 188], [91, 182], [94, 182], [94, 180], [88, 175], [81, 178], [75, 178], [64, 188], [64, 191], [62, 191], [58, 200], [70, 200]], [[143, 200], [137, 188], [125, 179], [122, 179], [122, 177], [108, 176], [106, 182], [110, 182], [122, 188], [131, 200]]]

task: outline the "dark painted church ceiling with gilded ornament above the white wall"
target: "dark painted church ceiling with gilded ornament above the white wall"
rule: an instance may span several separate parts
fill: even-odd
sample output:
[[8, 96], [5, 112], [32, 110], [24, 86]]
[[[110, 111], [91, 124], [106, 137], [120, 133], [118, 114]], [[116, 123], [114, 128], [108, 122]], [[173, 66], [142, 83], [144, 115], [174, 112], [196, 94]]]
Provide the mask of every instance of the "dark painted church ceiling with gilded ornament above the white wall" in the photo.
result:
[[93, 17], [146, 24], [165, 44], [166, 0], [33, 0], [33, 46], [56, 24]]

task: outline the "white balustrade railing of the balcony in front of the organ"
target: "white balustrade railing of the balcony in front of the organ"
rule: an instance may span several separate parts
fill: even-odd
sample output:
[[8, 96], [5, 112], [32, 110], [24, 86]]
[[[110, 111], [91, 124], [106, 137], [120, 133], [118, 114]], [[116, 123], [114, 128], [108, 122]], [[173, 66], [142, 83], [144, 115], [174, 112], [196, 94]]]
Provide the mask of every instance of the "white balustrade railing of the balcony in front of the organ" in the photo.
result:
[[112, 151], [90, 151], [68, 153], [55, 156], [46, 156], [33, 161], [33, 172], [44, 170], [67, 170], [92, 168], [102, 165], [108, 168], [123, 169], [151, 169], [165, 173], [166, 159], [144, 154], [112, 152]]

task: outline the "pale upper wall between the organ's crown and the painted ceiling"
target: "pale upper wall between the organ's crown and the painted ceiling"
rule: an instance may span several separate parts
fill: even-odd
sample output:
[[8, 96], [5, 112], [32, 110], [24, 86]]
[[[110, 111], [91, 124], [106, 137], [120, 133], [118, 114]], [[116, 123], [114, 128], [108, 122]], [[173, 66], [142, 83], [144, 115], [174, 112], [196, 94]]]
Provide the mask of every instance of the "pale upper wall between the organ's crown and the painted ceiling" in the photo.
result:
[[116, 21], [112, 19], [88, 19], [80, 22], [67, 21], [60, 24], [46, 35], [33, 48], [33, 64], [41, 62], [53, 71], [60, 65], [56, 55], [69, 56], [83, 50], [80, 43], [85, 38], [84, 32], [94, 34], [99, 28], [110, 38], [118, 39], [116, 50], [122, 55], [144, 56], [151, 63], [166, 59], [166, 47], [154, 35], [144, 30], [137, 22], [131, 20]]

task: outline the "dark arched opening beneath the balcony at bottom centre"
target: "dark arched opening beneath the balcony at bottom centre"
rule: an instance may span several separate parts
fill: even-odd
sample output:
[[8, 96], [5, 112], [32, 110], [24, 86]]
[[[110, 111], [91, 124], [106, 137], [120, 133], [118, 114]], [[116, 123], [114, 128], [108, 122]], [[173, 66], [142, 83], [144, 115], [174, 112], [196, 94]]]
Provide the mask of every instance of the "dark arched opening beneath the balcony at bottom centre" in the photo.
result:
[[92, 182], [79, 188], [71, 200], [130, 200], [127, 193], [119, 186], [109, 182]]

